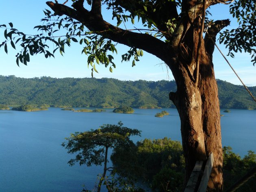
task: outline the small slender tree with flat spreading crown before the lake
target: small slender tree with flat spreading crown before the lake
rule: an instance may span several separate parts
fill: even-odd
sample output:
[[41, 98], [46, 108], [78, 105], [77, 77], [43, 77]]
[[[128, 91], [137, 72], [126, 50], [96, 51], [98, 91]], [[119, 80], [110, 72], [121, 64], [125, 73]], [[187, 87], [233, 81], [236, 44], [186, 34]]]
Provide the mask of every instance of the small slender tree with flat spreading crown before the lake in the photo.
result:
[[101, 166], [104, 163], [104, 171], [97, 188], [97, 192], [100, 192], [106, 172], [112, 169], [112, 167], [107, 167], [108, 149], [131, 145], [133, 142], [130, 136], [134, 135], [141, 136], [141, 131], [123, 127], [123, 123], [119, 121], [117, 125], [104, 124], [99, 129], [70, 134], [69, 138], [65, 138], [67, 142], [63, 142], [62, 146], [68, 150], [67, 153], [77, 153], [74, 159], [69, 160], [70, 166], [76, 162], [79, 162], [80, 166], [83, 164]]

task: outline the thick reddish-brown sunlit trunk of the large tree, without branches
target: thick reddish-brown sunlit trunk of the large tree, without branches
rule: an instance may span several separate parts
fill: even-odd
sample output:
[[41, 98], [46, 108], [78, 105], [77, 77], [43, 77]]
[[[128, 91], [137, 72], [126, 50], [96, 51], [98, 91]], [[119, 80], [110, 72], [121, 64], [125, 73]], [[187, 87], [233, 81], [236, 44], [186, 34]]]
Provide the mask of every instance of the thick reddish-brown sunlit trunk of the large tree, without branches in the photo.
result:
[[[194, 42], [194, 47], [190, 50], [197, 49], [198, 39]], [[191, 46], [191, 42], [189, 43], [187, 43], [188, 47]], [[190, 53], [186, 57], [180, 50], [176, 67], [171, 68], [177, 91], [169, 94], [180, 115], [182, 146], [186, 161], [185, 183], [189, 180], [195, 162], [206, 160], [212, 152], [215, 162], [208, 188], [221, 192], [223, 179], [220, 110], [212, 58], [206, 54], [204, 42], [202, 42], [199, 57], [199, 83], [196, 85], [195, 72], [193, 72], [196, 71], [195, 64], [191, 65], [193, 58], [189, 55], [193, 54]]]

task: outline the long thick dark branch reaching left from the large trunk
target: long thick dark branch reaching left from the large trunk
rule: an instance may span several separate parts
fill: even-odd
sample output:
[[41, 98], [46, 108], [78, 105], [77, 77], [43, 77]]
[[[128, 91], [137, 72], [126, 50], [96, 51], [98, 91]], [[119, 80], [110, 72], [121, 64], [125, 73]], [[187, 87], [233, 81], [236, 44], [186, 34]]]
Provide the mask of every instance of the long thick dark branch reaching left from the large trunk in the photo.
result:
[[[77, 1], [73, 4], [72, 9], [63, 4], [55, 4], [54, 2], [46, 2], [48, 6], [58, 15], [64, 14], [68, 17], [78, 20], [84, 24], [89, 30], [95, 34], [102, 35], [108, 39], [111, 39], [117, 43], [127, 45], [129, 47], [136, 47], [150, 54], [157, 56], [162, 60], [166, 60], [166, 54], [171, 55], [171, 49], [167, 44], [151, 35], [141, 34], [137, 32], [131, 32], [123, 30], [116, 26], [109, 24], [104, 19], [95, 16], [95, 14], [89, 12], [83, 6], [81, 7]], [[165, 53], [164, 53], [165, 52]]]

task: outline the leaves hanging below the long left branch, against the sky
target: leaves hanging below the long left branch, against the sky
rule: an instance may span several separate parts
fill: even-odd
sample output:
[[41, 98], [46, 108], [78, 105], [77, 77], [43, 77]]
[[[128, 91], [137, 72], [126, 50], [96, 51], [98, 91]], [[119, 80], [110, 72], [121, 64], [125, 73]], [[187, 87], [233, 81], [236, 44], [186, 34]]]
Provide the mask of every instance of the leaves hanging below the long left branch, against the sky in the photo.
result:
[[[65, 53], [65, 46], [70, 47], [72, 43], [80, 43], [82, 48], [82, 54], [87, 55], [88, 67], [91, 66], [91, 76], [93, 72], [98, 73], [96, 65], [103, 64], [105, 67], [109, 67], [109, 71], [112, 72], [115, 68], [113, 63], [112, 54], [117, 54], [116, 44], [113, 44], [111, 40], [106, 39], [104, 36], [95, 35], [93, 32], [86, 30], [85, 26], [80, 22], [75, 21], [71, 17], [56, 17], [49, 10], [43, 11], [46, 15], [41, 19], [43, 25], [35, 26], [39, 34], [26, 35], [23, 32], [13, 28], [13, 24], [9, 23], [10, 28], [7, 25], [0, 25], [0, 28], [4, 28], [5, 41], [0, 44], [4, 46], [4, 50], [8, 53], [7, 43], [10, 42], [11, 46], [16, 49], [15, 44], [20, 43], [22, 50], [16, 55], [16, 63], [19, 66], [20, 63], [27, 65], [30, 61], [30, 56], [36, 54], [44, 54], [46, 58], [54, 57], [56, 50], [59, 50], [60, 54]], [[66, 35], [56, 35], [60, 30], [67, 30]], [[56, 36], [54, 36], [56, 35]], [[53, 44], [53, 50], [50, 49], [49, 44]], [[112, 54], [108, 54], [112, 52]], [[132, 65], [135, 65], [135, 61], [139, 61], [138, 57], [143, 55], [142, 50], [135, 48], [128, 51], [127, 54], [122, 56], [122, 60], [130, 60], [131, 56], [134, 56]]]

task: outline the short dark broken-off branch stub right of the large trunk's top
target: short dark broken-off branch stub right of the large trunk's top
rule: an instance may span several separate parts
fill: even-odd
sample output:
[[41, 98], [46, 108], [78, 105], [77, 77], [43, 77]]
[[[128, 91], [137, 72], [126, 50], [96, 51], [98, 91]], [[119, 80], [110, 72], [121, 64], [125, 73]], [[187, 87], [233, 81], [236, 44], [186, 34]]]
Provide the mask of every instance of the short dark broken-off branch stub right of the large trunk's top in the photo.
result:
[[[230, 24], [229, 19], [225, 20], [217, 20], [213, 22], [210, 26], [208, 26], [208, 33], [206, 33], [204, 37], [204, 45], [205, 45], [205, 50], [209, 54], [209, 56], [213, 56], [213, 51], [214, 51], [214, 42], [216, 42], [216, 36], [217, 34], [223, 29], [224, 27], [228, 26]], [[211, 39], [213, 39], [213, 41]]]

